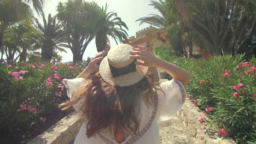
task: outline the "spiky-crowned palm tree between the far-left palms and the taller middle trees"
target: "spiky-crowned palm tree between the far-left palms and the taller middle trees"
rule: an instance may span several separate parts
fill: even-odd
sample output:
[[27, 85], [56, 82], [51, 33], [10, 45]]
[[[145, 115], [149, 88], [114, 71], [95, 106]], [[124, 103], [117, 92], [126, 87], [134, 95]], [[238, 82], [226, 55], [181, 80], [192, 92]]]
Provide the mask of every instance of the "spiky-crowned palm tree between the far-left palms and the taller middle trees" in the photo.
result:
[[43, 16], [44, 26], [42, 26], [36, 19], [37, 28], [43, 33], [40, 37], [42, 44], [42, 60], [51, 61], [53, 58], [53, 52], [60, 50], [66, 52], [62, 47], [67, 47], [65, 42], [65, 33], [61, 29], [60, 21], [56, 22], [56, 17], [48, 15], [48, 22], [46, 22]]

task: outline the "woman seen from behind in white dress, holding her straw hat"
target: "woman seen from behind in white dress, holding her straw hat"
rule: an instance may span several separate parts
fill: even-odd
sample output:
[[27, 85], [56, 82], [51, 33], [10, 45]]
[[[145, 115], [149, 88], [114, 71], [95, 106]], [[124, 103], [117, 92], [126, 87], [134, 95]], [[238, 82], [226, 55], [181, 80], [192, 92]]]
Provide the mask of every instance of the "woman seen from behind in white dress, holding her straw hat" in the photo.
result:
[[[146, 47], [120, 44], [98, 53], [76, 78], [64, 79], [73, 106], [85, 119], [74, 143], [161, 143], [158, 123], [166, 121], [187, 97], [190, 76]], [[94, 73], [101, 61], [99, 72]], [[165, 70], [173, 80], [155, 86], [148, 67]]]

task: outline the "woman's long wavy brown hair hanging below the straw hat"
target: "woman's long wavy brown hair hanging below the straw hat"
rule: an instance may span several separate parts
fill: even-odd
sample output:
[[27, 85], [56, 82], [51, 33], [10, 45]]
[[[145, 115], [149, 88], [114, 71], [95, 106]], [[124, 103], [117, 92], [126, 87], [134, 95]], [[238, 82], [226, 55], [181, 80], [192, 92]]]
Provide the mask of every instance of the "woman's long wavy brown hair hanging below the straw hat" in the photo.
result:
[[152, 105], [153, 88], [158, 89], [150, 73], [135, 85], [127, 87], [110, 85], [102, 79], [100, 73], [96, 73], [90, 75], [74, 92], [74, 99], [60, 106], [65, 106], [62, 110], [66, 110], [84, 100], [79, 106], [79, 112], [82, 111], [87, 122], [87, 137], [106, 129], [115, 135], [117, 128], [137, 134], [139, 123], [135, 117], [135, 104], [142, 98], [148, 106]]

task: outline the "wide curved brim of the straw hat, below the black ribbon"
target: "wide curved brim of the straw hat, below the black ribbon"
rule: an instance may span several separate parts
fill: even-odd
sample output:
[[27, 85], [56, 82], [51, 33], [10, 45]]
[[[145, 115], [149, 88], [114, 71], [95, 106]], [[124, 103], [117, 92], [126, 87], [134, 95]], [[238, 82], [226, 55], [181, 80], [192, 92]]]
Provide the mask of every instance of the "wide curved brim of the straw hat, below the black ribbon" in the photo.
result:
[[[140, 60], [137, 59], [137, 61], [140, 61]], [[109, 67], [107, 56], [102, 59], [100, 64], [100, 74], [102, 79], [107, 83], [114, 84], [116, 86], [121, 86], [121, 87], [131, 86], [139, 82], [147, 74], [147, 71], [148, 71], [148, 67], [145, 67], [143, 65], [136, 65], [136, 71], [125, 74], [125, 75], [113, 77]]]

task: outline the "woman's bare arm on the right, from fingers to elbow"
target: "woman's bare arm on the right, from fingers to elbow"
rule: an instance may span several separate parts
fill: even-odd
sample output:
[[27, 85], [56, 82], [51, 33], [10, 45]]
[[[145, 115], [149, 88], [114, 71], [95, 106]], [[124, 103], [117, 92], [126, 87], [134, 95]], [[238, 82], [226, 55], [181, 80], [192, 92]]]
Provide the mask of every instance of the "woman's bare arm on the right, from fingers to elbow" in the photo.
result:
[[153, 55], [153, 53], [149, 52], [146, 47], [137, 45], [130, 53], [130, 58], [141, 59], [143, 61], [137, 61], [136, 64], [144, 65], [147, 67], [157, 67], [165, 70], [173, 77], [173, 79], [181, 81], [184, 87], [189, 83], [190, 76], [185, 70], [156, 57]]

